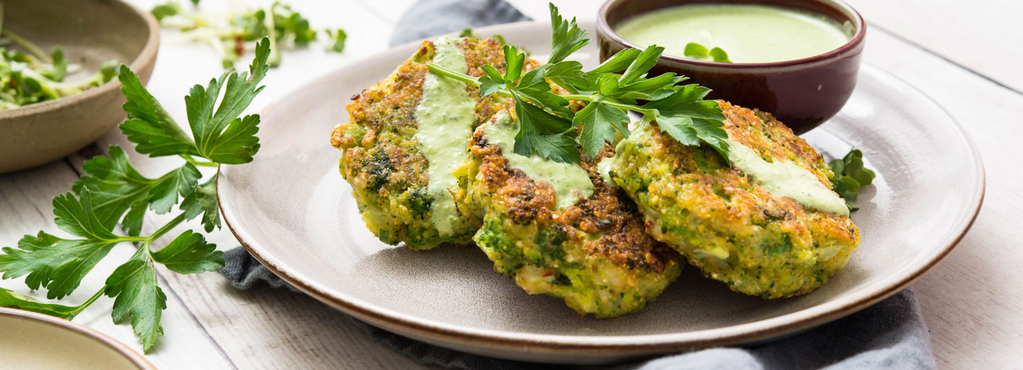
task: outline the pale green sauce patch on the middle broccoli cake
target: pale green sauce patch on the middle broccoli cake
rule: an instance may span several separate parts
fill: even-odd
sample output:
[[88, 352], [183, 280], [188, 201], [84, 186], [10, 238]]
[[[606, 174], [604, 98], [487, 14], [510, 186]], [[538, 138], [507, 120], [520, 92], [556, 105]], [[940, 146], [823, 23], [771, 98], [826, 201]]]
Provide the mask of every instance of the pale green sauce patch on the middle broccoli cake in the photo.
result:
[[558, 207], [572, 205], [593, 195], [593, 183], [582, 168], [553, 161], [537, 156], [525, 156], [515, 152], [515, 136], [519, 125], [511, 122], [506, 112], [500, 112], [491, 122], [480, 126], [486, 133], [487, 141], [501, 148], [508, 159], [508, 167], [521, 170], [534, 181], [550, 183], [554, 187]]

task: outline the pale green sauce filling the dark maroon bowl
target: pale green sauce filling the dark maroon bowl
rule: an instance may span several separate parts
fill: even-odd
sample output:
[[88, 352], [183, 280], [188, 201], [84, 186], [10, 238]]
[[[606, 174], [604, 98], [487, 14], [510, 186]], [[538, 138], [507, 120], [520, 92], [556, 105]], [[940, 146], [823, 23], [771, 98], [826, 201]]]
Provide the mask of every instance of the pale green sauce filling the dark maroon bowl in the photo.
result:
[[802, 59], [852, 39], [852, 25], [822, 14], [751, 4], [693, 4], [639, 14], [615, 30], [639, 46], [657, 44], [684, 56], [688, 43], [719, 47], [737, 63]]

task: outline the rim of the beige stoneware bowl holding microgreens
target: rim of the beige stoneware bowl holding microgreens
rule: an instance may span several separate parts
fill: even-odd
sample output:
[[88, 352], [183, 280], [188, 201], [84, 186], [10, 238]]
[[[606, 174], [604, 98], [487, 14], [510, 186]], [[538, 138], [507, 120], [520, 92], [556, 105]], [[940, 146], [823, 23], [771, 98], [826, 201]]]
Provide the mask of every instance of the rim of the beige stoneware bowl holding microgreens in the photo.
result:
[[[150, 63], [150, 61], [157, 57], [157, 49], [160, 48], [160, 24], [157, 22], [157, 18], [153, 17], [148, 11], [139, 9], [137, 6], [129, 4], [123, 0], [112, 1], [127, 7], [136, 15], [141, 17], [142, 20], [145, 21], [146, 29], [149, 32], [149, 37], [145, 40], [145, 46], [142, 47], [142, 50], [139, 51], [138, 55], [135, 56], [135, 59], [131, 61], [131, 64], [129, 64], [132, 71], [138, 71], [142, 65]], [[3, 109], [0, 110], [0, 123], [3, 123], [8, 119], [16, 119], [45, 111], [57, 110], [64, 106], [86, 101], [95, 96], [106, 94], [110, 90], [120, 88], [121, 82], [118, 79], [114, 79], [107, 81], [105, 84], [83, 91], [81, 94], [23, 105], [12, 109]]]

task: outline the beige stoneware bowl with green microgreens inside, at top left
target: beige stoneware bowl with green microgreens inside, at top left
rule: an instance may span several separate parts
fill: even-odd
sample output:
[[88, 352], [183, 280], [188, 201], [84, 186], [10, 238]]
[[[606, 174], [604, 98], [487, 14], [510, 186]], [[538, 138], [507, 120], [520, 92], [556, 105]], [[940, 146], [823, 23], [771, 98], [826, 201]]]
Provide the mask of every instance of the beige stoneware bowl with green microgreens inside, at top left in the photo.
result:
[[120, 0], [0, 2], [0, 173], [63, 157], [120, 123], [118, 65], [145, 84], [159, 44], [155, 19]]

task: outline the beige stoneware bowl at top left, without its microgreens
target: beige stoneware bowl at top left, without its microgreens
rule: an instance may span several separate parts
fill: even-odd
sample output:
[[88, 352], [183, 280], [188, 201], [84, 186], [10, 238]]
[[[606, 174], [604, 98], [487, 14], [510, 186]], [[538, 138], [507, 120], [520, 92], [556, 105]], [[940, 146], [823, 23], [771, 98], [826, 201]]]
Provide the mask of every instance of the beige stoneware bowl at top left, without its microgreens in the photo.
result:
[[[60, 45], [84, 79], [108, 61], [128, 64], [144, 85], [152, 75], [160, 26], [120, 0], [4, 2], [3, 27], [43, 50]], [[81, 94], [0, 110], [0, 174], [39, 166], [85, 147], [125, 117], [115, 79]]]

